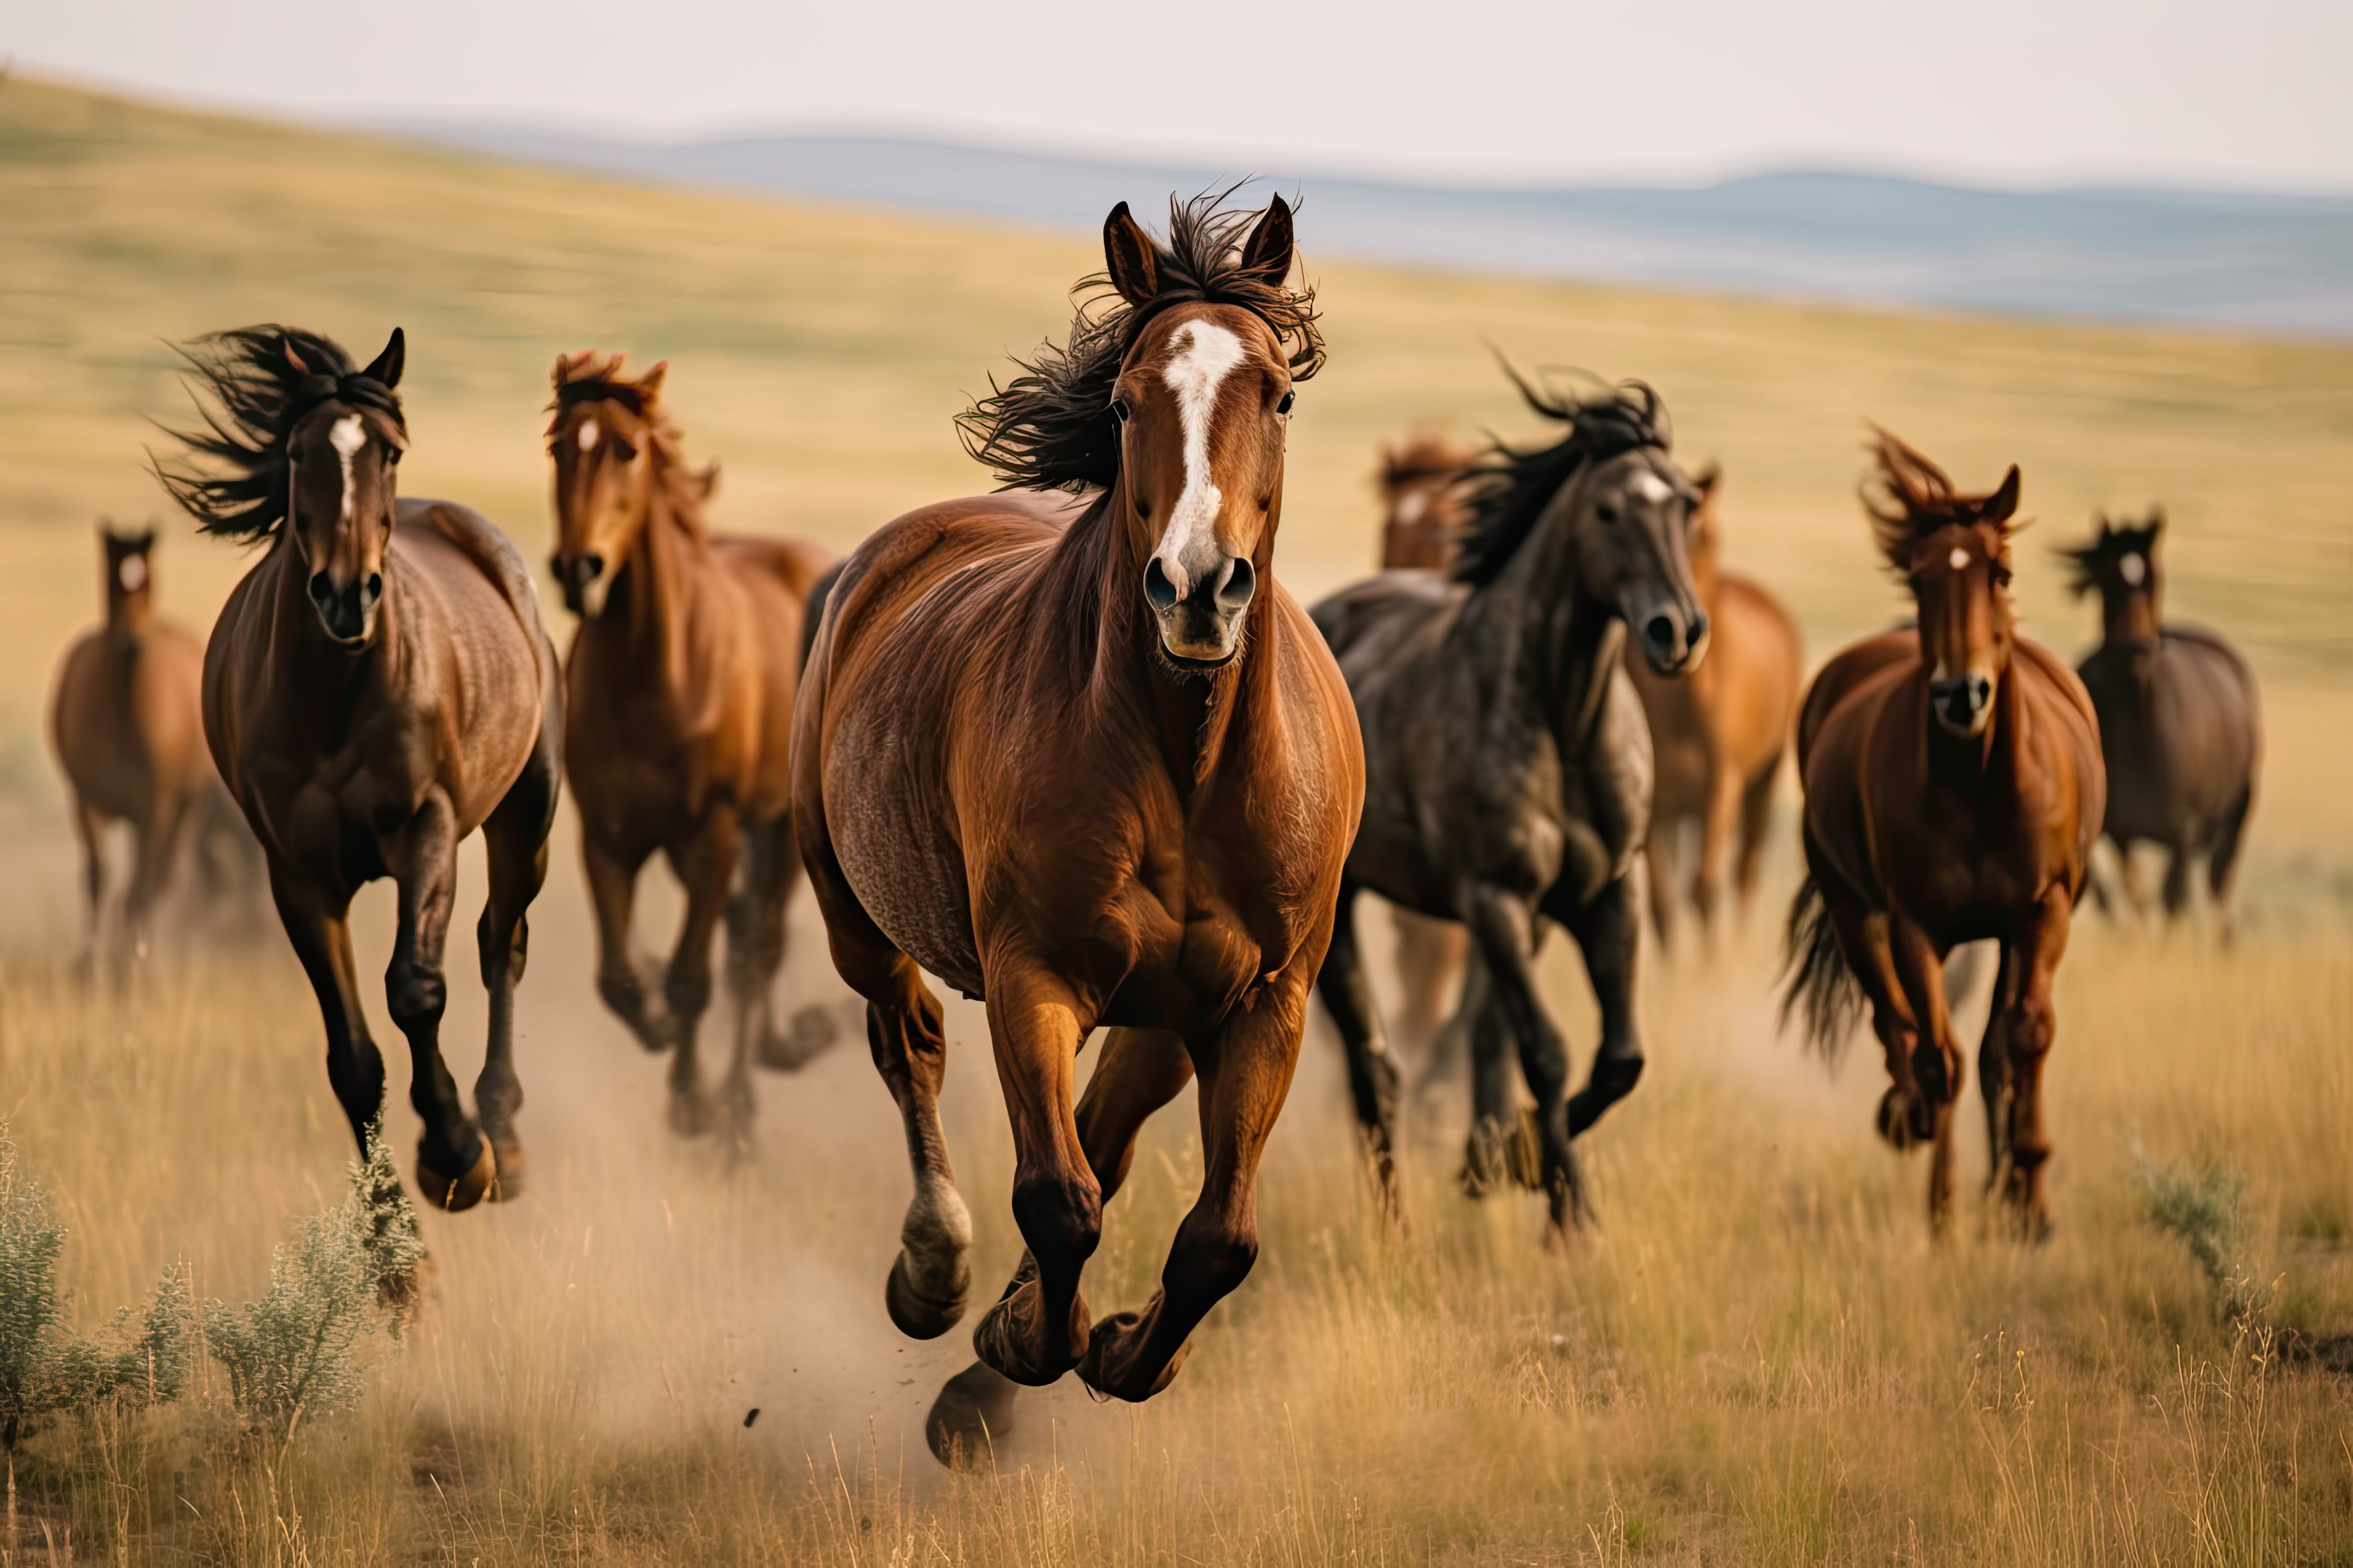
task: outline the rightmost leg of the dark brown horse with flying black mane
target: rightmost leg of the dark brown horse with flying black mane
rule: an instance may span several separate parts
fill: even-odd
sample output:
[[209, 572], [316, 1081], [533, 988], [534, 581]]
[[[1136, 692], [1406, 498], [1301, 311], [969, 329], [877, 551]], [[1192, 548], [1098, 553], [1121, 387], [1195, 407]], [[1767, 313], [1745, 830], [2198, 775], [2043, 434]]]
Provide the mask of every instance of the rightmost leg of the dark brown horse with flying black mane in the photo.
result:
[[515, 1077], [515, 985], [532, 952], [529, 907], [548, 882], [548, 830], [555, 825], [558, 762], [553, 736], [541, 731], [522, 776], [482, 823], [489, 860], [489, 900], [475, 926], [482, 950], [482, 990], [489, 994], [489, 1044], [482, 1074], [473, 1081], [473, 1107], [482, 1117], [499, 1166], [492, 1201], [522, 1197], [522, 1079]]

